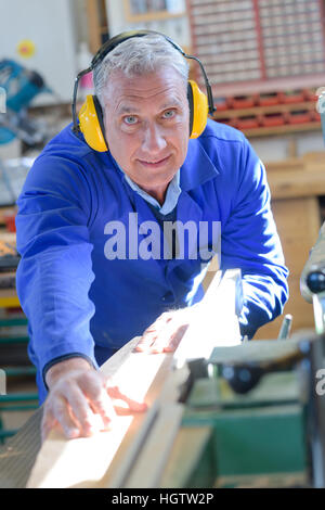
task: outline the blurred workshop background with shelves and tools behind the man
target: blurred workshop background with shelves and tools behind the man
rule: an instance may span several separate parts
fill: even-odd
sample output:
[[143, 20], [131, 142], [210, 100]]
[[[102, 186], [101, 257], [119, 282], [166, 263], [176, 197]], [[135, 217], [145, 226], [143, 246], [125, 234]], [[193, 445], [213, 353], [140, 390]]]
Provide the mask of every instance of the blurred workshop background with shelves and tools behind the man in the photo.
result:
[[[197, 55], [212, 86], [214, 120], [242, 130], [264, 162], [290, 270], [291, 332], [313, 329], [299, 278], [325, 216], [323, 0], [0, 0], [0, 442], [37, 407], [27, 321], [15, 293], [15, 201], [34, 158], [70, 122], [78, 71], [109, 37], [167, 34]], [[202, 78], [195, 64], [191, 73]], [[204, 89], [204, 87], [203, 87]], [[92, 91], [80, 84], [79, 106]], [[6, 106], [6, 107], [4, 107]], [[213, 262], [205, 284], [217, 270]], [[282, 318], [257, 340], [276, 339]], [[1, 393], [5, 393], [1, 395]]]

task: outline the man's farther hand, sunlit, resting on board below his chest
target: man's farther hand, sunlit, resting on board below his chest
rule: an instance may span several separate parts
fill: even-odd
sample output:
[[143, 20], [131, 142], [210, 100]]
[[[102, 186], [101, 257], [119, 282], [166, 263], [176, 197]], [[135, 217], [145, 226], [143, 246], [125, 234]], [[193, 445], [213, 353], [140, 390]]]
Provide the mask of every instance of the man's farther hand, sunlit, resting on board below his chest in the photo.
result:
[[188, 328], [190, 320], [198, 309], [198, 305], [194, 305], [180, 310], [165, 311], [145, 330], [134, 350], [140, 353], [176, 350]]

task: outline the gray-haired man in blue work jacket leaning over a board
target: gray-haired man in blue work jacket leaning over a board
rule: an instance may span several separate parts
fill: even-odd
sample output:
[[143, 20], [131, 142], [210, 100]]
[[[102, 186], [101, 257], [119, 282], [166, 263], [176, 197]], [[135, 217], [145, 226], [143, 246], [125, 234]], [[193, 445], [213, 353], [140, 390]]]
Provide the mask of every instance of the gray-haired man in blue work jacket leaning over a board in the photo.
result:
[[[263, 165], [240, 132], [212, 120], [188, 140], [187, 73], [165, 36], [126, 38], [94, 67], [107, 150], [69, 125], [27, 176], [17, 292], [40, 401], [49, 391], [44, 434], [57, 423], [68, 437], [91, 434], [94, 413], [107, 426], [110, 397], [144, 408], [109, 388], [98, 367], [134, 335], [143, 334], [139, 350], [176, 347], [219, 250], [212, 224], [221, 268], [242, 269], [242, 334], [282, 313], [287, 269]], [[206, 235], [183, 229], [180, 242], [182, 229], [165, 230], [176, 222], [196, 233], [205, 225]]]

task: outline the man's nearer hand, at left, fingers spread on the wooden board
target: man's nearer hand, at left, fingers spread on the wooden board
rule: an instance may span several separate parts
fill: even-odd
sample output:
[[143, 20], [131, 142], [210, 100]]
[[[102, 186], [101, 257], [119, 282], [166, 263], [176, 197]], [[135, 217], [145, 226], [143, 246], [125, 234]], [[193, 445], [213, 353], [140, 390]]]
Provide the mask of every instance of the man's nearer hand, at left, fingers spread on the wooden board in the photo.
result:
[[47, 373], [47, 383], [50, 391], [43, 407], [42, 439], [56, 425], [67, 438], [109, 429], [118, 411], [112, 399], [126, 403], [129, 411], [146, 410], [144, 403], [136, 403], [109, 385], [109, 380], [83, 358], [53, 365]]

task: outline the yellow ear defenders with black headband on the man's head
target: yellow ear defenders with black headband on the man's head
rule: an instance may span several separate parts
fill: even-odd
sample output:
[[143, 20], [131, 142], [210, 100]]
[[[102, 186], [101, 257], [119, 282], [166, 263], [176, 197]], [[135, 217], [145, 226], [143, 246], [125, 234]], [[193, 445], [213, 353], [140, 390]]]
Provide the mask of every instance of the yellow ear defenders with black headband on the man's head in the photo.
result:
[[94, 151], [98, 152], [106, 152], [108, 151], [108, 145], [105, 140], [105, 129], [104, 129], [104, 122], [103, 122], [103, 112], [100, 104], [100, 101], [96, 95], [87, 95], [86, 102], [82, 104], [80, 112], [79, 112], [79, 123], [76, 113], [76, 103], [77, 103], [77, 92], [78, 92], [78, 84], [80, 78], [91, 73], [96, 65], [99, 65], [109, 53], [114, 50], [118, 44], [121, 42], [132, 39], [133, 37], [142, 37], [150, 34], [162, 36], [170, 44], [178, 50], [185, 59], [193, 59], [195, 60], [202, 69], [207, 95], [203, 93], [197, 84], [193, 80], [187, 81], [187, 100], [190, 105], [190, 138], [197, 138], [202, 135], [205, 130], [208, 114], [212, 115], [216, 111], [213, 106], [213, 98], [211, 87], [205, 72], [205, 68], [202, 62], [193, 55], [187, 55], [182, 48], [177, 44], [172, 39], [164, 34], [154, 30], [131, 30], [125, 31], [119, 34], [118, 36], [113, 37], [109, 39], [105, 44], [100, 48], [98, 53], [91, 61], [90, 67], [87, 69], [81, 71], [75, 80], [74, 87], [74, 97], [73, 97], [73, 122], [74, 127], [73, 130], [75, 133], [81, 131], [83, 133], [84, 140], [88, 145], [91, 146]]

